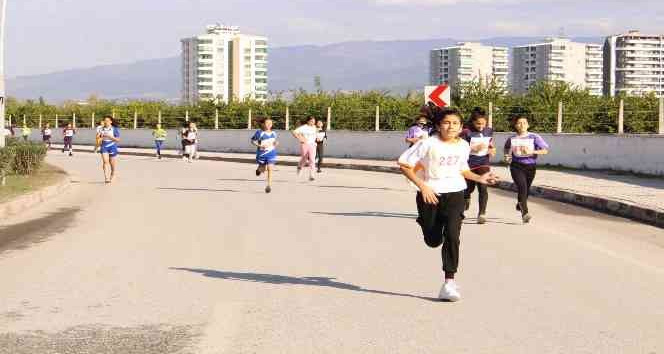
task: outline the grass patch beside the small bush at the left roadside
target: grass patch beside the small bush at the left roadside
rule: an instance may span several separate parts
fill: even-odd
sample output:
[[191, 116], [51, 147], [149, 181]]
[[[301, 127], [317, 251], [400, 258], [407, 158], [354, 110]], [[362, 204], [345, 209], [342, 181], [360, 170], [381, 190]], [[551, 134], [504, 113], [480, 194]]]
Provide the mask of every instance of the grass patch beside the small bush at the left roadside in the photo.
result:
[[0, 203], [19, 195], [54, 185], [60, 182], [65, 176], [65, 171], [46, 163], [32, 175], [7, 176], [7, 184], [4, 187], [0, 186]]

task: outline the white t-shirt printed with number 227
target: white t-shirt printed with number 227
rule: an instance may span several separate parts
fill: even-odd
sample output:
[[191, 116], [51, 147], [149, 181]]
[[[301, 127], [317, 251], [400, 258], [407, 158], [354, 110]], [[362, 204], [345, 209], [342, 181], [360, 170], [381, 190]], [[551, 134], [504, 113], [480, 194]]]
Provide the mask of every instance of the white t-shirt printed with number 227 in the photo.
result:
[[421, 165], [422, 179], [435, 193], [454, 193], [468, 187], [461, 173], [470, 170], [469, 155], [470, 145], [465, 140], [444, 143], [434, 136], [420, 140], [406, 150], [399, 157], [399, 163], [411, 167]]

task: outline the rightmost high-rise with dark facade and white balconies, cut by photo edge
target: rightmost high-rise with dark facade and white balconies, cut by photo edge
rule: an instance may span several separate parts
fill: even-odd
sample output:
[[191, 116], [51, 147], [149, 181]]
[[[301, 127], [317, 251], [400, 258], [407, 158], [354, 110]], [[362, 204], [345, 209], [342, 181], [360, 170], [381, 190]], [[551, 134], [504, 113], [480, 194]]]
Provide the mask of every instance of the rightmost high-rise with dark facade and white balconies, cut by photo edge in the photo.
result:
[[604, 43], [604, 94], [664, 96], [664, 35], [639, 31], [610, 36]]

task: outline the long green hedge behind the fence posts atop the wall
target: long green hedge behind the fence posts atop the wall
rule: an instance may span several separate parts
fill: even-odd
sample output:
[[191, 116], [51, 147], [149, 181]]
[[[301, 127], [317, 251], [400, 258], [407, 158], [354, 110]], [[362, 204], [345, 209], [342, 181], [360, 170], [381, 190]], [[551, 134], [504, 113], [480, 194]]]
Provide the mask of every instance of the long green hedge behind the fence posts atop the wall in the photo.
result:
[[[659, 120], [659, 100], [654, 94], [642, 96], [597, 97], [580, 87], [558, 82], [539, 82], [523, 95], [511, 94], [496, 82], [469, 83], [454, 87], [452, 103], [467, 117], [474, 107], [488, 109], [493, 105], [493, 123], [497, 131], [510, 131], [509, 118], [516, 110], [527, 112], [534, 131], [555, 132], [558, 103], [563, 103], [562, 128], [565, 133], [615, 133], [618, 130], [618, 110], [624, 100], [625, 133], [656, 133]], [[252, 117], [271, 117], [275, 127], [283, 129], [286, 107], [289, 108], [290, 127], [313, 115], [325, 119], [327, 108], [332, 109], [332, 128], [348, 130], [375, 129], [376, 106], [380, 106], [381, 130], [404, 130], [417, 118], [424, 103], [423, 92], [413, 91], [396, 95], [387, 91], [305, 92], [302, 90], [274, 93], [268, 102], [230, 102], [228, 104], [201, 101], [193, 105], [173, 105], [165, 101], [111, 101], [91, 97], [85, 104], [65, 102], [51, 105], [44, 100], [18, 101], [7, 99], [7, 114], [21, 126], [25, 116], [31, 127], [50, 123], [59, 129], [73, 120], [88, 128], [94, 116], [98, 122], [104, 115], [115, 115], [122, 128], [131, 128], [134, 114], [141, 128], [152, 128], [162, 114], [165, 128], [181, 126], [189, 114], [199, 128], [213, 128], [219, 114], [222, 129], [247, 127], [248, 113]], [[58, 117], [58, 127], [55, 117]], [[96, 125], [96, 123], [95, 123]]]

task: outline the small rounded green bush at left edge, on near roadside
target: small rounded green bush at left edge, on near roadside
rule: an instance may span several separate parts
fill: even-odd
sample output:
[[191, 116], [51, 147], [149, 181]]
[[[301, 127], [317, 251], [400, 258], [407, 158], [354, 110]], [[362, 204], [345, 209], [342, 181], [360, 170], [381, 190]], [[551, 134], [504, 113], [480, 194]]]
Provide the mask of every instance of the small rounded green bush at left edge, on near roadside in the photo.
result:
[[8, 139], [7, 146], [0, 149], [0, 174], [6, 176], [34, 173], [44, 162], [46, 151], [44, 144]]

